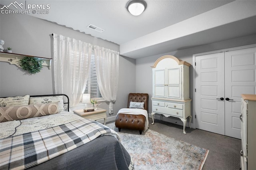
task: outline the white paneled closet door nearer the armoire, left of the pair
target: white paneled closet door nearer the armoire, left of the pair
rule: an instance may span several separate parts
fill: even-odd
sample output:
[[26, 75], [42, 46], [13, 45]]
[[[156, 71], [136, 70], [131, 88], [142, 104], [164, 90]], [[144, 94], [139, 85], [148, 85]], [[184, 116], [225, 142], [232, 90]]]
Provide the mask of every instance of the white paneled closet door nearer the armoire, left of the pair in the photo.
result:
[[196, 128], [225, 134], [224, 53], [196, 56], [195, 107]]

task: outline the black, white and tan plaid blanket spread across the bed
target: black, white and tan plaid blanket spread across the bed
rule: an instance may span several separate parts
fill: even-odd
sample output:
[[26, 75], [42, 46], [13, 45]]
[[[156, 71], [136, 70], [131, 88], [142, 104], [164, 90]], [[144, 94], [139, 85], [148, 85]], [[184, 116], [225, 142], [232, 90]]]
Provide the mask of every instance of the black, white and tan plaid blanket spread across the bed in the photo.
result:
[[120, 140], [114, 130], [88, 119], [0, 139], [0, 169], [36, 166], [101, 135]]

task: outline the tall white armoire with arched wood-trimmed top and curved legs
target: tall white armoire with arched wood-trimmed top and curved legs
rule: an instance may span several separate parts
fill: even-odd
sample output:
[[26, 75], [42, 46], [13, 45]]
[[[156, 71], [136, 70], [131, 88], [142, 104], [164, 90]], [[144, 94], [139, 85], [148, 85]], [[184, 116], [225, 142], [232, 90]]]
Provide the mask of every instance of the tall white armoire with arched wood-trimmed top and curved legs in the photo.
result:
[[153, 96], [152, 120], [158, 113], [165, 117], [177, 117], [183, 122], [183, 133], [189, 117], [191, 122], [191, 99], [189, 93], [190, 63], [172, 55], [164, 55], [152, 67]]

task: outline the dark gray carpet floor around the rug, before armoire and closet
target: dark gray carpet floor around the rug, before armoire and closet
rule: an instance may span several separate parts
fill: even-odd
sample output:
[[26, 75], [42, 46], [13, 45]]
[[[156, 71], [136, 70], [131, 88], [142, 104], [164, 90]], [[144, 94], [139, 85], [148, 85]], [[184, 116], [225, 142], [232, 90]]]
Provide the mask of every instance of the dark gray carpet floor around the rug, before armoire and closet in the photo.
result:
[[190, 129], [188, 127], [186, 127], [187, 134], [183, 134], [182, 126], [156, 119], [154, 125], [151, 125], [152, 119], [149, 119], [149, 123], [150, 130], [154, 130], [156, 132], [165, 134], [166, 136], [196, 145], [200, 148], [208, 149], [209, 154], [203, 170], [240, 169], [240, 139], [207, 132], [204, 130]]

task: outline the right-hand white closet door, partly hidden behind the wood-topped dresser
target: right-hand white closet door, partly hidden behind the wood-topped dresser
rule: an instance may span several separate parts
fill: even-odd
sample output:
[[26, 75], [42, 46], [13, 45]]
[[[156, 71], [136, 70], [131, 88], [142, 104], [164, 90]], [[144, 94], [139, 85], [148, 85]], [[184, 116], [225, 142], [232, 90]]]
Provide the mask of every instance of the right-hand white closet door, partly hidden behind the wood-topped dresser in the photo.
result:
[[256, 94], [255, 70], [256, 47], [225, 52], [226, 136], [241, 138], [241, 94]]

